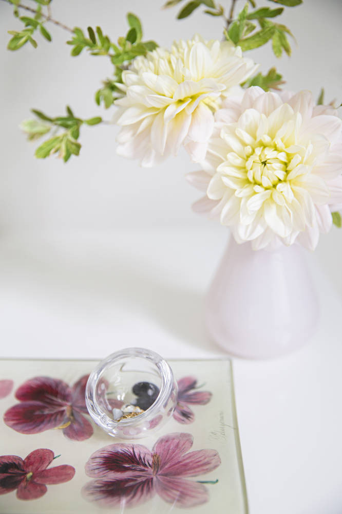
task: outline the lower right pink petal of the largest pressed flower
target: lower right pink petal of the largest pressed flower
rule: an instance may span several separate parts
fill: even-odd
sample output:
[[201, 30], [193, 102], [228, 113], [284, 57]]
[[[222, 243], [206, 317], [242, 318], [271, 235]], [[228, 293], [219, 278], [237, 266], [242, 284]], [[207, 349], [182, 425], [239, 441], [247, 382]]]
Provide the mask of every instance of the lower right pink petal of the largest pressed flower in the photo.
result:
[[166, 503], [176, 507], [196, 507], [209, 500], [207, 488], [203, 484], [190, 480], [158, 476], [155, 488]]

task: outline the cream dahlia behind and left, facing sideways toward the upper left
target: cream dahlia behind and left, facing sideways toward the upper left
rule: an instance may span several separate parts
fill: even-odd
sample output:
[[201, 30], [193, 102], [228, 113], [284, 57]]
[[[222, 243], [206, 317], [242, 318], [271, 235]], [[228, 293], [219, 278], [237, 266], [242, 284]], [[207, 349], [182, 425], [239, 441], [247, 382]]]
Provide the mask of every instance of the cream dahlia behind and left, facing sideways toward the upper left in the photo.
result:
[[228, 41], [204, 41], [195, 36], [175, 42], [171, 50], [157, 48], [137, 57], [122, 74], [124, 97], [116, 122], [122, 126], [118, 153], [153, 166], [181, 144], [201, 144], [211, 135], [213, 112], [230, 90], [244, 82], [257, 66]]

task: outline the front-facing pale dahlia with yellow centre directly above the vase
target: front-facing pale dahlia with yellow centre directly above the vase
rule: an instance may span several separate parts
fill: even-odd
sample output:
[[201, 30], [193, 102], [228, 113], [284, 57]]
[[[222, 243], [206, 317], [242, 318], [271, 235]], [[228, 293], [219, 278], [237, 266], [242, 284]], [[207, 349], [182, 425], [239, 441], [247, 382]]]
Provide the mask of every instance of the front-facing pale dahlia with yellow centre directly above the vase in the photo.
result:
[[300, 242], [314, 249], [342, 204], [342, 121], [310, 91], [245, 91], [215, 114], [203, 171], [188, 179], [206, 196], [196, 211], [219, 216], [254, 249]]

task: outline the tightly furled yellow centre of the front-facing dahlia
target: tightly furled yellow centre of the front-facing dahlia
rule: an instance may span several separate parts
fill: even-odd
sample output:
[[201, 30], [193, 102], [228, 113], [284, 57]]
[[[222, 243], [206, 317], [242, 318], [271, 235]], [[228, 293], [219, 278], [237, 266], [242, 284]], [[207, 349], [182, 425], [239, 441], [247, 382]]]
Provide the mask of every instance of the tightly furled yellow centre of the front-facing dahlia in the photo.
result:
[[246, 171], [249, 181], [262, 188], [274, 188], [288, 175], [289, 159], [286, 152], [272, 146], [250, 146], [245, 149]]

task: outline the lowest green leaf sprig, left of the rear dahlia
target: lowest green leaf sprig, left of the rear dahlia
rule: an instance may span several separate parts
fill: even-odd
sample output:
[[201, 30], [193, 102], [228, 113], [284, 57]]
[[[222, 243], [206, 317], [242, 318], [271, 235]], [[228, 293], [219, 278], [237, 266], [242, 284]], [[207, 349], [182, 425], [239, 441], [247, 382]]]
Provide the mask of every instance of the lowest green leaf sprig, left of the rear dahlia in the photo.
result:
[[32, 109], [32, 112], [36, 119], [24, 120], [20, 125], [28, 139], [34, 141], [49, 133], [52, 136], [36, 149], [35, 156], [38, 159], [45, 159], [52, 154], [58, 154], [66, 162], [71, 155], [79, 155], [81, 144], [78, 138], [81, 125], [97, 125], [102, 122], [102, 118], [99, 116], [85, 120], [77, 118], [69, 106], [66, 107], [67, 116], [57, 116], [55, 118], [51, 118], [41, 111], [36, 111], [36, 109]]

